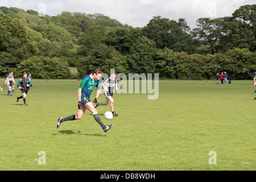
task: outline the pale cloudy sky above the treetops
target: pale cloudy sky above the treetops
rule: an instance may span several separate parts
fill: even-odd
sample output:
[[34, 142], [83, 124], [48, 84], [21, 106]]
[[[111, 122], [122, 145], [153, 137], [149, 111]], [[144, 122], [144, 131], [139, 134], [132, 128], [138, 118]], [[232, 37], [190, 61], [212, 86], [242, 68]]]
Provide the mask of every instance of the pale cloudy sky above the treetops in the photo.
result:
[[49, 16], [63, 11], [100, 13], [132, 27], [144, 27], [153, 18], [184, 18], [191, 29], [199, 18], [232, 16], [243, 5], [256, 0], [0, 0], [0, 6], [34, 10]]

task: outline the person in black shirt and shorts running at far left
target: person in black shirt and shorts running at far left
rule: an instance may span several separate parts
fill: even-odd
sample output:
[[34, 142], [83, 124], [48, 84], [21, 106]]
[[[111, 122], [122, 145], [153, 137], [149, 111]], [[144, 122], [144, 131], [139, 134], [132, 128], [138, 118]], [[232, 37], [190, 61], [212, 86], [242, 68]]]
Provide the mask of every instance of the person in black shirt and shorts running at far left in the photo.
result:
[[17, 97], [17, 102], [19, 101], [20, 98], [23, 98], [24, 105], [27, 106], [26, 104], [26, 97], [28, 90], [30, 90], [30, 87], [33, 86], [33, 83], [30, 79], [27, 78], [27, 73], [23, 73], [23, 77], [18, 81], [17, 83], [18, 88], [22, 92], [22, 96]]

